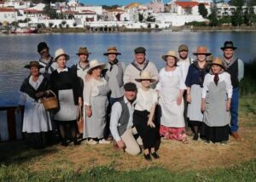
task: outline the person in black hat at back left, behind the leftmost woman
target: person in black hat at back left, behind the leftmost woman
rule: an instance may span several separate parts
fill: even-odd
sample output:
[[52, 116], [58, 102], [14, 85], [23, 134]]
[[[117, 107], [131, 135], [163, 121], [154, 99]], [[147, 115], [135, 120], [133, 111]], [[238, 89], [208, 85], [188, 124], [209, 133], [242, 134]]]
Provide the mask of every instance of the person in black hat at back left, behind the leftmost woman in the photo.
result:
[[38, 43], [38, 54], [40, 54], [39, 64], [43, 66], [40, 72], [44, 77], [49, 78], [49, 75], [57, 68], [57, 64], [53, 62], [53, 57], [49, 54], [47, 43]]

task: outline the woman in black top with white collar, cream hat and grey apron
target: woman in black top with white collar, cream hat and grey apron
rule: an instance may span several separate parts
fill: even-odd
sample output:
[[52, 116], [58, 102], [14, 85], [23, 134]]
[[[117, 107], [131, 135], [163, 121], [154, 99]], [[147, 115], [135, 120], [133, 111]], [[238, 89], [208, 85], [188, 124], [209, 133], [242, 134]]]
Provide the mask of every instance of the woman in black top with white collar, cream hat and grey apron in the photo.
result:
[[50, 83], [58, 97], [59, 108], [55, 111], [55, 122], [59, 126], [61, 145], [67, 146], [67, 138], [71, 135], [73, 144], [79, 145], [77, 140], [78, 105], [82, 105], [82, 90], [79, 87], [79, 77], [76, 72], [67, 68], [69, 56], [60, 48], [55, 51], [55, 59], [58, 67], [50, 75]]

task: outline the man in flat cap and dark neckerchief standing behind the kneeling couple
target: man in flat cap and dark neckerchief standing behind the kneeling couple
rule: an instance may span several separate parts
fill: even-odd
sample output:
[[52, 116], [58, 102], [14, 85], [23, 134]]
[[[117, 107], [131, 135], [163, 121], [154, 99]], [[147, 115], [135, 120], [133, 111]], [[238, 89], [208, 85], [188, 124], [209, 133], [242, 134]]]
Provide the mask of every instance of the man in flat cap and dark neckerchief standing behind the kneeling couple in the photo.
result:
[[140, 87], [140, 82], [137, 82], [135, 78], [139, 77], [143, 70], [149, 71], [151, 76], [158, 81], [158, 70], [153, 62], [146, 59], [146, 48], [135, 48], [134, 53], [135, 60], [127, 66], [124, 75], [124, 82], [134, 82], [137, 87]]

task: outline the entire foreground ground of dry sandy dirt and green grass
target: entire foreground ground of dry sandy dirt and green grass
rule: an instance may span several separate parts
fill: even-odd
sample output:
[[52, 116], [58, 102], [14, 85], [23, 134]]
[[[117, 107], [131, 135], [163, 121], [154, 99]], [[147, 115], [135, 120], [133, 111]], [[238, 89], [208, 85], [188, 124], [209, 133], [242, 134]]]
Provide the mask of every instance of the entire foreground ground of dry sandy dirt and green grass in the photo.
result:
[[240, 102], [242, 141], [204, 145], [162, 140], [160, 159], [146, 162], [113, 145], [53, 145], [27, 148], [23, 141], [0, 143], [0, 181], [256, 181], [256, 98]]

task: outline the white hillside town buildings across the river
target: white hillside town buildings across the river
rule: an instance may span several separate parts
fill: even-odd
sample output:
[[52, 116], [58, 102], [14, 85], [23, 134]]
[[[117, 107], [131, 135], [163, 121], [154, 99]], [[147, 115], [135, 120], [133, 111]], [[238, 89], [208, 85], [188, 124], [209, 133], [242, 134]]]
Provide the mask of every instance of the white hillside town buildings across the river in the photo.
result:
[[[255, 14], [256, 6], [252, 8]], [[213, 3], [212, 0], [171, 0], [166, 4], [163, 0], [152, 0], [146, 4], [130, 3], [114, 9], [86, 5], [79, 0], [49, 4], [0, 0], [0, 22], [2, 27], [89, 27], [91, 31], [104, 27], [170, 29], [189, 22], [209, 22], [207, 14], [211, 14], [212, 9], [217, 9], [217, 17], [222, 18], [234, 14], [237, 7], [229, 3]], [[247, 6], [242, 6], [241, 11], [247, 11]]]

